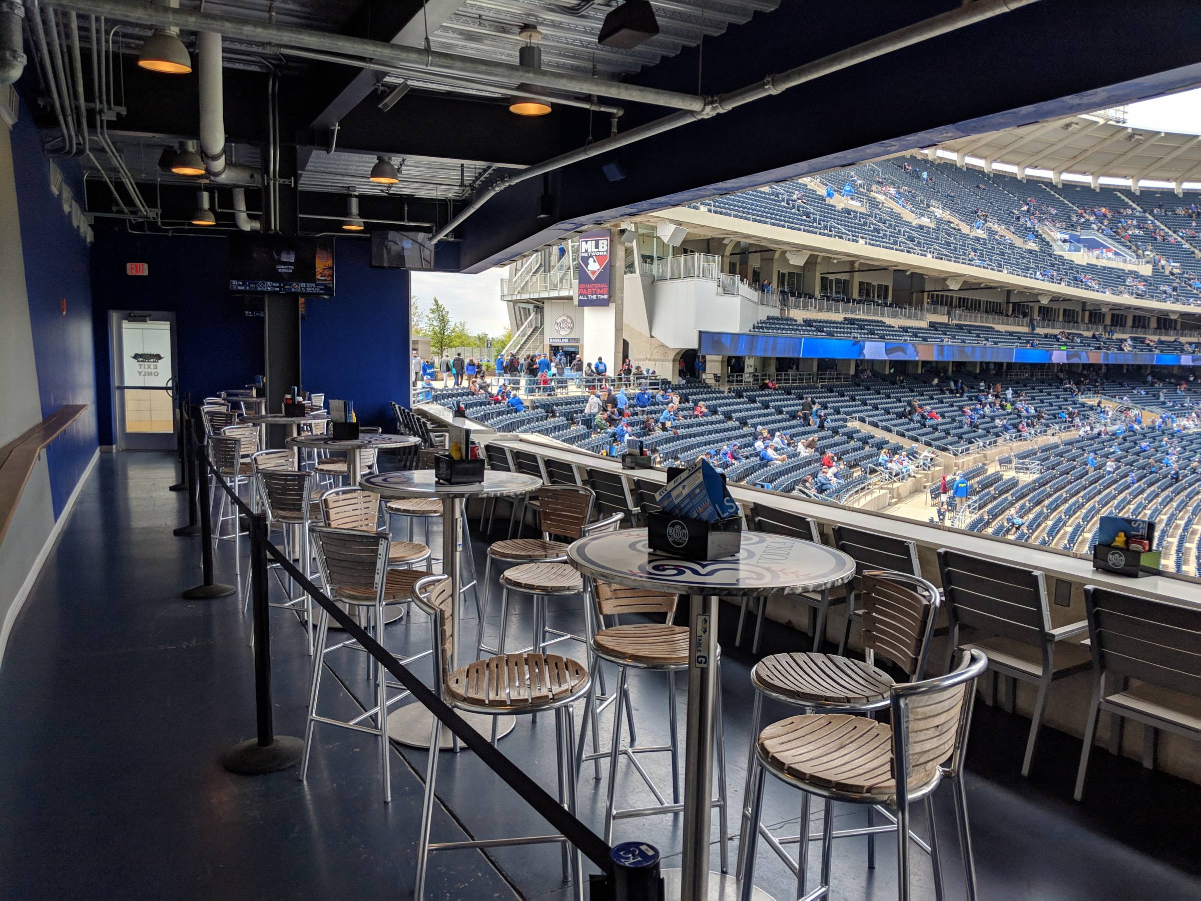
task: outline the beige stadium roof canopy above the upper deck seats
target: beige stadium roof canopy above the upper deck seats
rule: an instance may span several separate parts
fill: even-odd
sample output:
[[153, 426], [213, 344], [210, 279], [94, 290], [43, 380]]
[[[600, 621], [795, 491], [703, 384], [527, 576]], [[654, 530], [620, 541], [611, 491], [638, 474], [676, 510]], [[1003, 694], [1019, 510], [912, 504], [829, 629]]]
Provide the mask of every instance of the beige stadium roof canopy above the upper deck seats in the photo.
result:
[[1201, 190], [1201, 135], [1133, 129], [1110, 111], [957, 138], [933, 153], [961, 166], [1056, 184]]

